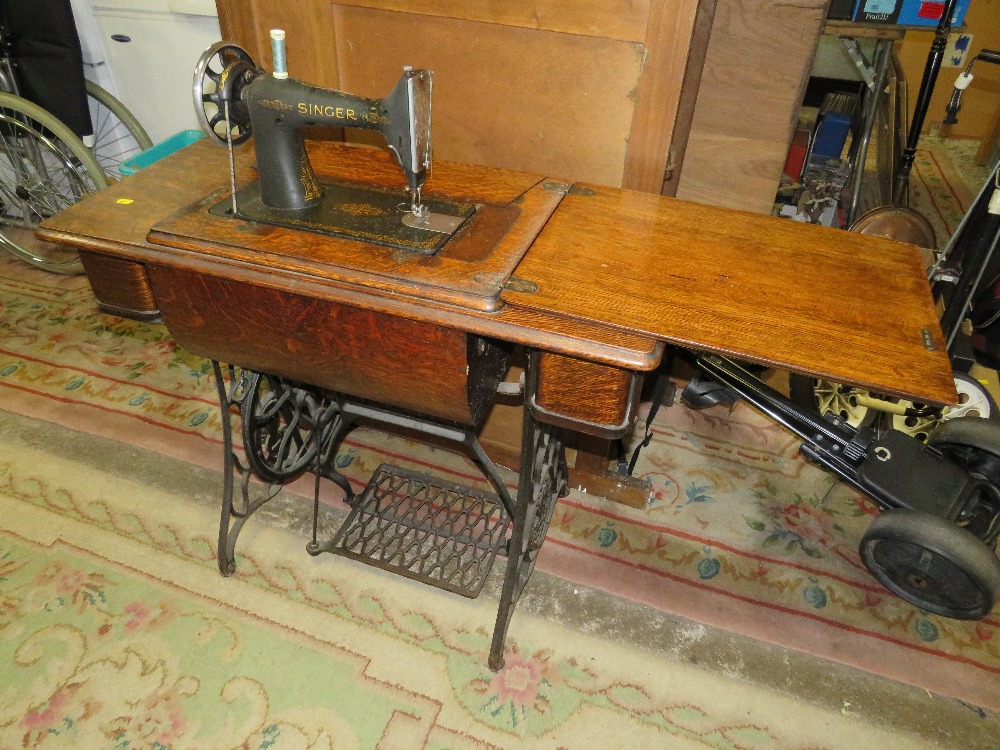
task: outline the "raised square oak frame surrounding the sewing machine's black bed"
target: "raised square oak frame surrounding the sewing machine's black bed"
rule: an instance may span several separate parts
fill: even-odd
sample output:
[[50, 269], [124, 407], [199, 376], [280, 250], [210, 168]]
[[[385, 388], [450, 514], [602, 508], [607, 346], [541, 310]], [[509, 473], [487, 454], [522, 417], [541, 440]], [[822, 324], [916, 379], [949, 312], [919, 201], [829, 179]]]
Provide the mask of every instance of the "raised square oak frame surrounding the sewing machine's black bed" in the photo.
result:
[[[392, 157], [380, 150], [311, 142], [317, 175], [359, 185], [402, 189]], [[250, 154], [239, 154], [237, 185], [253, 178]], [[500, 306], [500, 292], [562, 199], [566, 183], [490, 167], [438, 162], [424, 186], [430, 198], [466, 201], [475, 214], [432, 255], [358, 239], [247, 222], [210, 212], [229, 194], [225, 151], [206, 153], [219, 188], [156, 223], [148, 241], [244, 267], [269, 268], [350, 284], [376, 294], [405, 295], [473, 310]], [[401, 193], [401, 200], [404, 198]]]

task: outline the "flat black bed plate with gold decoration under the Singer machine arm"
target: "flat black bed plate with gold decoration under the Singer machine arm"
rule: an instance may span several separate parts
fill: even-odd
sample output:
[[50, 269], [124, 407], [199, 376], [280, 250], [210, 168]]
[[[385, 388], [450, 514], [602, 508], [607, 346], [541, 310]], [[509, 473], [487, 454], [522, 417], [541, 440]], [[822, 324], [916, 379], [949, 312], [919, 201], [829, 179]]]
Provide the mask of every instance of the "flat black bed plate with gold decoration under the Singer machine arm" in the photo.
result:
[[[278, 211], [264, 205], [259, 184], [252, 182], [236, 193], [236, 218], [433, 255], [476, 211], [474, 203], [425, 198], [423, 204], [432, 214], [454, 219], [453, 228], [442, 232], [404, 223], [412, 213], [409, 194], [403, 190], [322, 180], [320, 187], [323, 197], [317, 205]], [[212, 206], [209, 213], [232, 217], [231, 198]]]

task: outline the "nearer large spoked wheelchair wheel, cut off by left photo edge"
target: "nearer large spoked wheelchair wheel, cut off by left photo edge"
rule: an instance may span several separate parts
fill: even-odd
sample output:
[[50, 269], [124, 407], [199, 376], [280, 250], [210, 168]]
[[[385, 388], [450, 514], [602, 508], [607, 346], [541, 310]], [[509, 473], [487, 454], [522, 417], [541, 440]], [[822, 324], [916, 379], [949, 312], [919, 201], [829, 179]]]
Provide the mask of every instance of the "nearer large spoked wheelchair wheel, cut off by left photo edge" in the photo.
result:
[[83, 273], [75, 252], [35, 237], [39, 222], [107, 187], [93, 154], [49, 112], [0, 93], [0, 247], [38, 268]]

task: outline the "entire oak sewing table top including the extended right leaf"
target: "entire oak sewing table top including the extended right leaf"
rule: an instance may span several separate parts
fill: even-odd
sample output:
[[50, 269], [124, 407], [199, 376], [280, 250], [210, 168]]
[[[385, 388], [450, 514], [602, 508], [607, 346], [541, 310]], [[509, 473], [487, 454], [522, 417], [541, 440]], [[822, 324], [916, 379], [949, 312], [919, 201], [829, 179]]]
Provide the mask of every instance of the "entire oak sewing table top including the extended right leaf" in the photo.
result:
[[[309, 150], [320, 175], [403, 184], [381, 151]], [[255, 178], [252, 163], [252, 148], [237, 152], [238, 187]], [[927, 403], [955, 399], [929, 286], [909, 245], [436, 163], [427, 193], [492, 206], [480, 233], [493, 250], [466, 240], [415, 257], [208, 218], [228, 186], [225, 150], [201, 141], [60, 212], [39, 234], [626, 369], [652, 369], [664, 343], [679, 344]]]

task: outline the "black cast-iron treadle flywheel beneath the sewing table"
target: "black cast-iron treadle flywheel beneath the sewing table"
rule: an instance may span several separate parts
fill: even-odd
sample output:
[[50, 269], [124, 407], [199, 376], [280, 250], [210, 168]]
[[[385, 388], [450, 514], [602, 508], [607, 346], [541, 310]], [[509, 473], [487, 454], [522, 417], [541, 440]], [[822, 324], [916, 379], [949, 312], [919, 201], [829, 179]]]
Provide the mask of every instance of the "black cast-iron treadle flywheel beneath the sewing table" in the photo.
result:
[[253, 373], [240, 406], [250, 469], [270, 484], [290, 482], [315, 464], [335, 406], [275, 375]]

